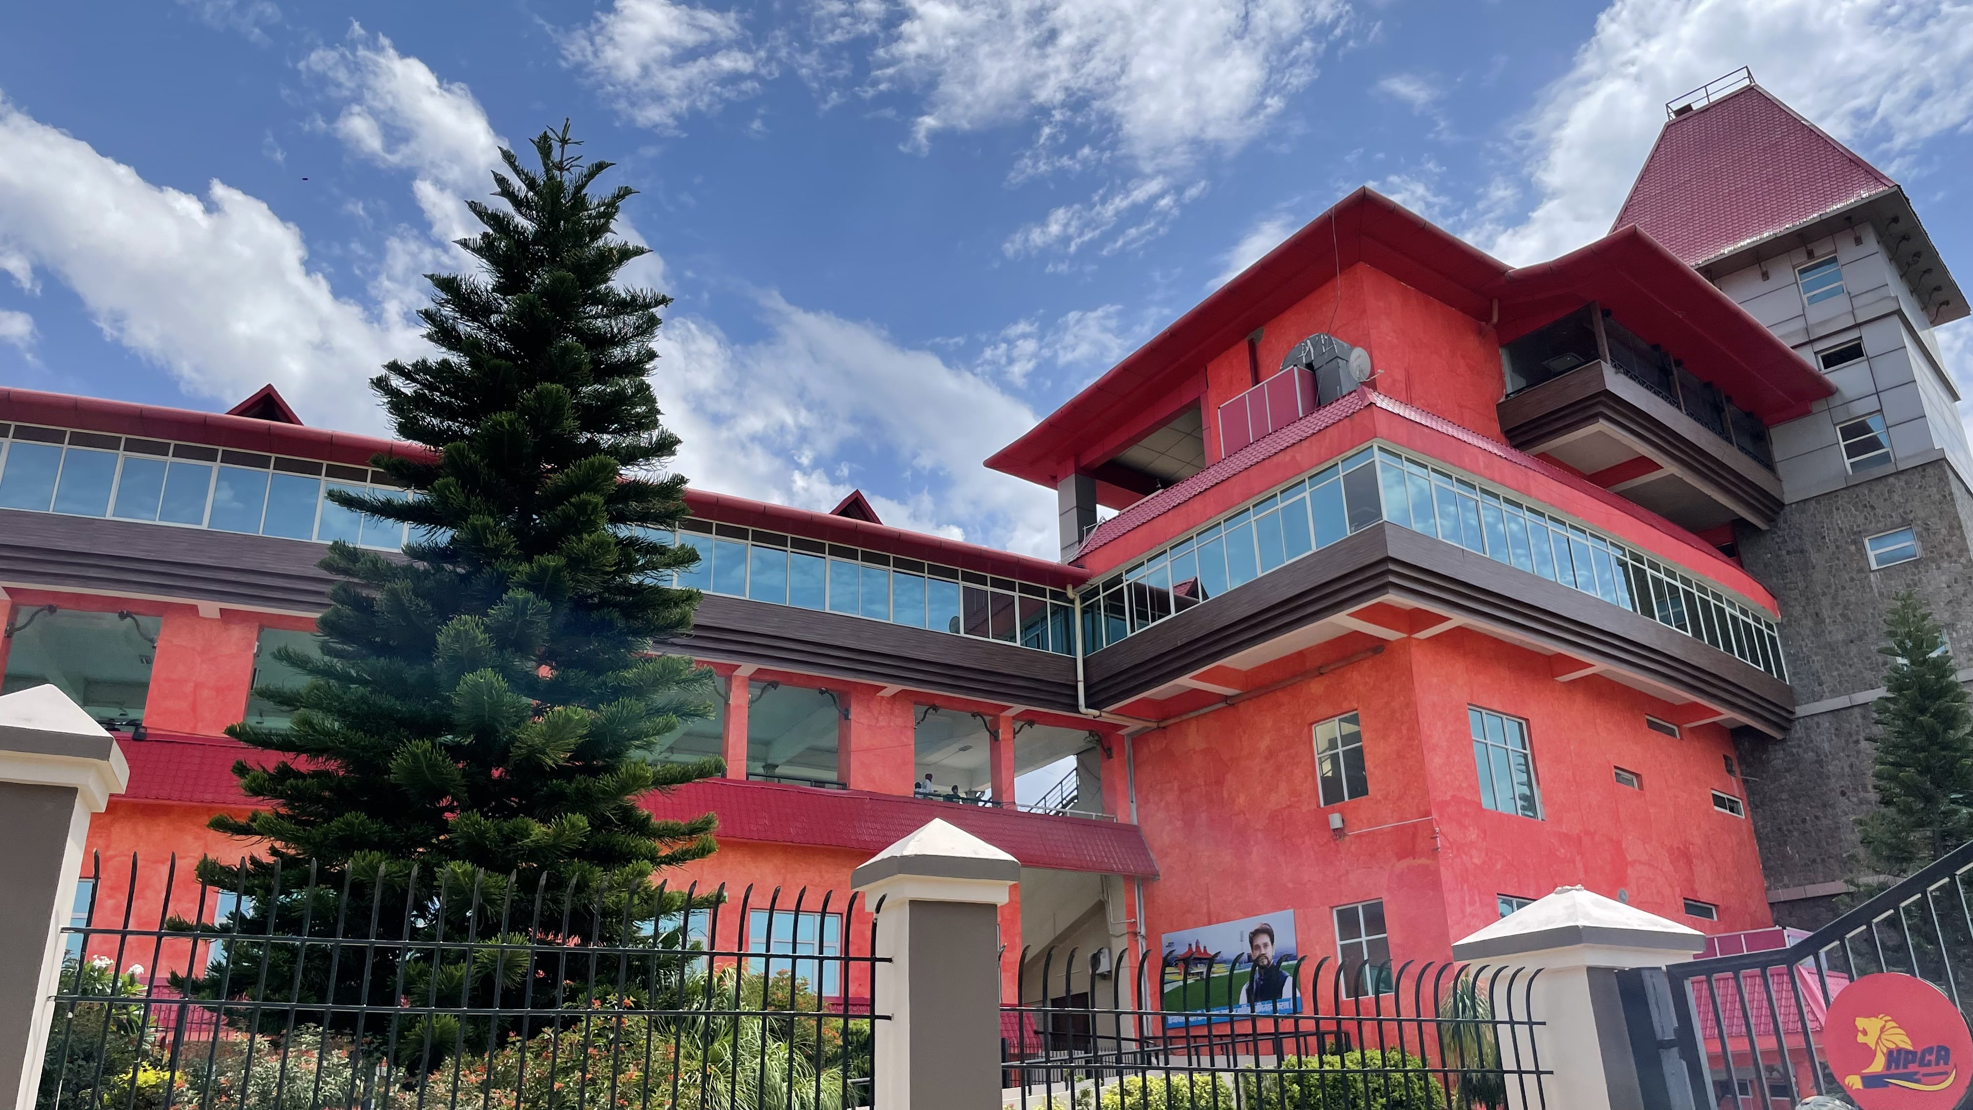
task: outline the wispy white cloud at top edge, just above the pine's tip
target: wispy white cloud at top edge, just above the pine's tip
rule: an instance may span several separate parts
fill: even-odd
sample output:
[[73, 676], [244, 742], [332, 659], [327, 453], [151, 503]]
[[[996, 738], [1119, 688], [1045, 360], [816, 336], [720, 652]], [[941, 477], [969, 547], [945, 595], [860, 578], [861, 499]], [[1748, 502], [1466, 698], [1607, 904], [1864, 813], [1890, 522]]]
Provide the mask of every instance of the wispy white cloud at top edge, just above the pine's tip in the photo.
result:
[[665, 132], [693, 113], [752, 97], [773, 75], [736, 12], [675, 0], [616, 0], [562, 38], [562, 61], [582, 69], [631, 122]]

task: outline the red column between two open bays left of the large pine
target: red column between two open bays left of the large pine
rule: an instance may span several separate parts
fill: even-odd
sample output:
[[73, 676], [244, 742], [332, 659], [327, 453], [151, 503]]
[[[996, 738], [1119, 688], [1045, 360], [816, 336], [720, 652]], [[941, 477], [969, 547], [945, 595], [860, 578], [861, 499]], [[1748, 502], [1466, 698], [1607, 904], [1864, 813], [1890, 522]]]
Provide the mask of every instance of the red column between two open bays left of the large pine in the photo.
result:
[[223, 735], [247, 715], [260, 622], [249, 612], [217, 618], [172, 610], [158, 626], [144, 727], [166, 733]]

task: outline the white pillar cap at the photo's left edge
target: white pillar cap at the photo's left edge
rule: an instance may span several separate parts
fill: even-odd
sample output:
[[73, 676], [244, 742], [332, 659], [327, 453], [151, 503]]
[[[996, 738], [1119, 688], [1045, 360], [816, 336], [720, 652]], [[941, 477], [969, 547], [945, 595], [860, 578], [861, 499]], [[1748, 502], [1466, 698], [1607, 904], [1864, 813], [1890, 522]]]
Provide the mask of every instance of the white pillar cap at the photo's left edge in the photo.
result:
[[130, 786], [116, 737], [55, 685], [0, 697], [0, 782], [69, 786], [91, 814]]

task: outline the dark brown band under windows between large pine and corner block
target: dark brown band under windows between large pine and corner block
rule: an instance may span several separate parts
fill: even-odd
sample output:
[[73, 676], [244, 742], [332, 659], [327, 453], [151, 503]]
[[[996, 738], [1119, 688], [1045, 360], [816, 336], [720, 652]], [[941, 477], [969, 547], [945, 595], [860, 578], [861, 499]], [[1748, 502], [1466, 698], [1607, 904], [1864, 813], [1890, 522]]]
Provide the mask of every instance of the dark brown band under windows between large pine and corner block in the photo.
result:
[[696, 660], [1075, 713], [1069, 656], [840, 612], [704, 595], [693, 634], [673, 648]]

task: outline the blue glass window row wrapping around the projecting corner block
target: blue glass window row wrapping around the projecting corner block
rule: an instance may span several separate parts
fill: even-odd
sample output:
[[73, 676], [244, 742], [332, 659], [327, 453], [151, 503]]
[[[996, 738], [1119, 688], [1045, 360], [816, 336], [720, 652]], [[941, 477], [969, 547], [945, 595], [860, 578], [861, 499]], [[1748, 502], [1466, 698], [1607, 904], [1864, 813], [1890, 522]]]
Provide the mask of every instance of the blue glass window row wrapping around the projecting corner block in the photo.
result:
[[1298, 478], [1095, 587], [1083, 602], [1085, 650], [1121, 642], [1379, 519], [1596, 595], [1788, 677], [1776, 626], [1764, 614], [1614, 539], [1383, 446]]

